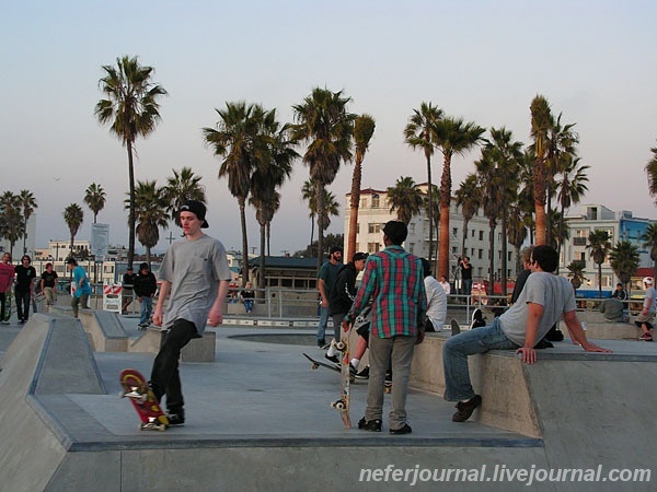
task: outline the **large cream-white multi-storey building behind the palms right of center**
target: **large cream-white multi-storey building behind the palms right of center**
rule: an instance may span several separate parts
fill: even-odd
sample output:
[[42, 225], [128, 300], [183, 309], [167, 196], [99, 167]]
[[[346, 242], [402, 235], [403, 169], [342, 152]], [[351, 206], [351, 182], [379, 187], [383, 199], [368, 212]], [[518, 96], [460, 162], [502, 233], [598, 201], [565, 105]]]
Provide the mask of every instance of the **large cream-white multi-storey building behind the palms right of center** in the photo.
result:
[[[419, 185], [420, 189], [426, 190], [427, 185]], [[345, 196], [345, 250], [346, 241], [349, 233], [349, 209], [350, 194]], [[396, 219], [396, 213], [390, 211], [388, 202], [388, 192], [372, 188], [360, 191], [360, 204], [358, 208], [358, 227], [356, 234], [356, 250], [365, 253], [376, 253], [383, 249], [383, 234], [381, 229], [385, 222]], [[463, 215], [452, 200], [450, 209], [450, 280], [454, 279], [454, 272], [458, 266], [458, 259], [462, 255], [463, 247]], [[438, 231], [434, 231], [434, 259], [438, 255]], [[468, 223], [468, 237], [465, 238], [465, 256], [470, 257], [472, 263], [472, 278], [475, 282], [488, 279], [489, 251], [495, 255], [495, 278], [498, 281], [502, 278], [502, 234], [499, 227], [495, 233], [495, 245], [491, 248], [488, 219], [480, 210], [476, 215]], [[408, 224], [408, 237], [404, 243], [404, 248], [413, 255], [428, 258], [429, 255], [429, 221], [425, 210], [415, 215]], [[347, 258], [345, 258], [347, 260]], [[514, 247], [507, 244], [507, 277], [516, 277], [516, 256]]]

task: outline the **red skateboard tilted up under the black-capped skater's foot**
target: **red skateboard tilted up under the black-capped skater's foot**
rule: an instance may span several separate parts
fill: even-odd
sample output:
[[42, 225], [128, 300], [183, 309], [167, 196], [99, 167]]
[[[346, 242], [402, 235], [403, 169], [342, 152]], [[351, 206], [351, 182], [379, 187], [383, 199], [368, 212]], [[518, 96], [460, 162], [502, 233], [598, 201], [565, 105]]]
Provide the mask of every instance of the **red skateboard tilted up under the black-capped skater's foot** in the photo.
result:
[[160, 408], [160, 403], [149, 388], [148, 383], [139, 371], [126, 368], [120, 372], [118, 380], [123, 387], [122, 398], [129, 398], [137, 410], [141, 431], [164, 431], [169, 419]]

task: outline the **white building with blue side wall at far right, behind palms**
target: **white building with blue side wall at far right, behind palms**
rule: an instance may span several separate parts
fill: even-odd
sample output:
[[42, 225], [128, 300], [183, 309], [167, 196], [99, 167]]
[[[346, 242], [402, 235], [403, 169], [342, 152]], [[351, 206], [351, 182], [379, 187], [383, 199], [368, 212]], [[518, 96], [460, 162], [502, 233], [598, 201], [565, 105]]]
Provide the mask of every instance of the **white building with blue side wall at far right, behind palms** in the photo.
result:
[[[568, 214], [565, 219], [569, 239], [562, 247], [560, 273], [563, 276], [567, 274], [568, 270], [566, 266], [570, 265], [570, 261], [584, 261], [586, 265], [584, 271], [587, 281], [578, 292], [586, 290], [598, 291], [598, 266], [591, 258], [590, 249], [586, 248], [588, 235], [591, 231], [607, 231], [612, 247], [620, 241], [629, 241], [638, 248], [639, 268], [653, 267], [650, 251], [643, 247], [643, 241], [639, 237], [646, 231], [647, 226], [656, 221], [635, 218], [627, 210], [614, 212], [602, 204], [581, 206], [578, 212]], [[611, 269], [609, 258], [607, 258], [602, 263], [602, 290], [610, 291], [618, 282], [619, 279]]]

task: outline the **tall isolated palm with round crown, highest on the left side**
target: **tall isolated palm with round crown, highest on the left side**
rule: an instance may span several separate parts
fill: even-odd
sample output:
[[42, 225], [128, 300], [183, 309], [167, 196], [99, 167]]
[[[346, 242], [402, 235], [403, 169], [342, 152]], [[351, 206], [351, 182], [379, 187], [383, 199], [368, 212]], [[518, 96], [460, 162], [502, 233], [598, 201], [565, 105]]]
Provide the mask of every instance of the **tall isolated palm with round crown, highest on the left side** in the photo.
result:
[[105, 77], [99, 81], [107, 98], [99, 101], [95, 116], [101, 124], [111, 122], [110, 131], [122, 141], [128, 152], [128, 181], [130, 209], [128, 214], [128, 267], [135, 256], [135, 165], [134, 149], [137, 137], [148, 137], [161, 120], [158, 99], [166, 91], [152, 82], [153, 68], [139, 65], [137, 57], [116, 59], [116, 67], [103, 66]]

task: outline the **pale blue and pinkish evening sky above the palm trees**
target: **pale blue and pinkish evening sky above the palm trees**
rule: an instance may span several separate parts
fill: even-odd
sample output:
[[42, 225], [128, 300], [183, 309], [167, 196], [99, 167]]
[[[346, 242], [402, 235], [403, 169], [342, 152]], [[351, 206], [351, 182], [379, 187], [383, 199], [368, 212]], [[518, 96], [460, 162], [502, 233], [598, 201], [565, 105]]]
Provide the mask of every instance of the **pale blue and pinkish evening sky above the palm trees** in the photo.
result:
[[[426, 181], [423, 153], [403, 139], [423, 102], [487, 129], [506, 127], [528, 144], [529, 106], [542, 94], [562, 122], [576, 124], [581, 163], [591, 166], [583, 203], [657, 219], [645, 174], [657, 147], [653, 0], [27, 0], [2, 10], [0, 192], [35, 196], [36, 247], [70, 237], [64, 221], [70, 203], [84, 211], [76, 237], [91, 239], [93, 214], [83, 197], [92, 183], [106, 192], [97, 221], [110, 224], [110, 243], [127, 246], [127, 153], [93, 114], [103, 97], [102, 66], [124, 55], [153, 67], [153, 81], [169, 93], [160, 101], [162, 121], [137, 141], [136, 179], [164, 185], [183, 166], [203, 176], [207, 233], [227, 248], [241, 248], [238, 203], [218, 178], [220, 161], [201, 128], [217, 124], [216, 108], [237, 101], [293, 121], [292, 105], [318, 86], [344, 91], [353, 98], [349, 112], [377, 121], [362, 188], [384, 189], [401, 176]], [[454, 159], [453, 189], [477, 157], [475, 151]], [[343, 164], [328, 187], [341, 216], [327, 233], [343, 232], [351, 171]], [[435, 183], [441, 172], [438, 152]], [[299, 160], [281, 188], [273, 255], [310, 242], [306, 179]], [[253, 209], [246, 220], [250, 249], [258, 253]], [[170, 232], [181, 231], [175, 224], [162, 231], [157, 250], [165, 249]]]

